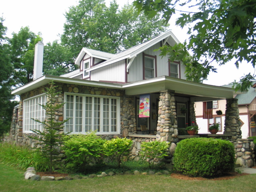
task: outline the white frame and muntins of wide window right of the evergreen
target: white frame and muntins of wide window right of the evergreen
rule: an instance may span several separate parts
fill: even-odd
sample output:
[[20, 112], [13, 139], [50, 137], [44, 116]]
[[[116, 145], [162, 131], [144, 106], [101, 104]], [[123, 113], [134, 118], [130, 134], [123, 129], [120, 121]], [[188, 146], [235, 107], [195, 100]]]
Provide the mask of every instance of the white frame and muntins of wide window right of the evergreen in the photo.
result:
[[[70, 107], [69, 107], [69, 104], [71, 102], [67, 102], [68, 96], [74, 96], [73, 105], [72, 105], [73, 111], [71, 111], [71, 113], [72, 113], [71, 115], [70, 115]], [[76, 110], [76, 107], [78, 107], [78, 104], [76, 104], [76, 102], [75, 102], [76, 97], [82, 97], [82, 110], [81, 110], [82, 114], [79, 114], [79, 112], [78, 112], [80, 109]], [[68, 119], [71, 117], [71, 119], [70, 119], [71, 122], [69, 120], [64, 125], [65, 133], [70, 132], [70, 134], [86, 134], [90, 130], [92, 130], [92, 131], [96, 130], [97, 131], [96, 134], [98, 134], [98, 135], [120, 134], [120, 98], [119, 97], [65, 93], [64, 98], [65, 98], [65, 103], [66, 103], [64, 105], [64, 119]], [[86, 105], [86, 98], [87, 99], [92, 98], [93, 104], [90, 105], [89, 104], [90, 102], [87, 102], [87, 105]], [[95, 99], [96, 100], [98, 99], [100, 102], [97, 103], [95, 101]], [[113, 104], [113, 105], [111, 103], [106, 104], [106, 103], [104, 103], [104, 100], [109, 100], [109, 101], [115, 100], [116, 104]], [[98, 105], [100, 109], [96, 110], [96, 105]], [[105, 106], [106, 110], [104, 110], [104, 106]], [[67, 111], [67, 110], [69, 110], [69, 111]], [[92, 113], [91, 114], [87, 113], [88, 111], [92, 112]], [[87, 116], [88, 114], [90, 114], [91, 118], [88, 118], [88, 116]], [[109, 116], [104, 116], [106, 114], [108, 114]], [[78, 118], [81, 118], [81, 120], [80, 121], [76, 120], [76, 118], [74, 118], [76, 116], [79, 116]], [[88, 123], [88, 121], [86, 121], [86, 118], [90, 123]], [[75, 121], [79, 122], [79, 123], [82, 121], [82, 130], [81, 130], [81, 128], [80, 128], [80, 130], [79, 130], [79, 128], [76, 128]], [[112, 121], [114, 121], [115, 124], [112, 124]], [[108, 124], [106, 125], [106, 124], [104, 124], [104, 122], [108, 122]], [[86, 126], [86, 124], [87, 124], [87, 126]], [[98, 125], [98, 127], [96, 127], [95, 125]], [[108, 129], [108, 130], [106, 130], [106, 129]], [[114, 129], [116, 129], [116, 130], [114, 130]]]

